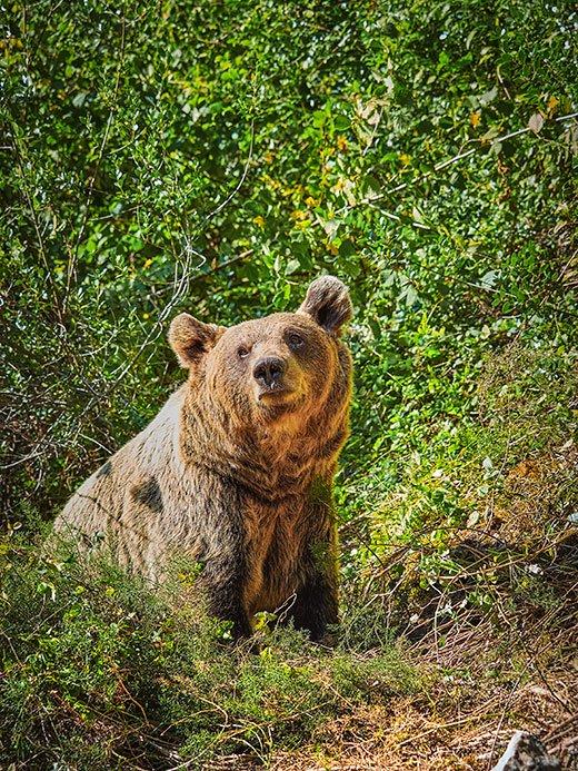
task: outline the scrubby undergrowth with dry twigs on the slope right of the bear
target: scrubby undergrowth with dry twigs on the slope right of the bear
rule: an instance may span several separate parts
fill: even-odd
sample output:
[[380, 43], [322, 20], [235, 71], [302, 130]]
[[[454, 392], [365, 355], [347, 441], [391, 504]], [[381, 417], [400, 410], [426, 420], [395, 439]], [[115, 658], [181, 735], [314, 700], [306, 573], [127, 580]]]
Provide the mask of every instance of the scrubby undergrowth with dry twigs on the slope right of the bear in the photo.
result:
[[412, 453], [381, 501], [345, 524], [346, 541], [361, 541], [365, 595], [387, 586], [372, 599], [375, 611], [383, 605], [378, 633], [383, 619], [411, 640], [466, 617], [502, 629], [505, 609], [556, 609], [550, 623], [570, 624], [577, 386], [572, 349], [516, 342], [488, 356], [469, 416]]

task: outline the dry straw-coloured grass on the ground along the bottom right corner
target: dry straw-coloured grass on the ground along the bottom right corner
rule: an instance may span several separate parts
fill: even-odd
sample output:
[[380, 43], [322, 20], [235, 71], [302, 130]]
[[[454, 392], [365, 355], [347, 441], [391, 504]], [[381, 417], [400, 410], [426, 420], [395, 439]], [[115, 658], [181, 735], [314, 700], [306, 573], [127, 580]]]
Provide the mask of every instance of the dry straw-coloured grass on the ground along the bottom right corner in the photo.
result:
[[[480, 637], [484, 630], [480, 631]], [[560, 641], [557, 641], [560, 642]], [[514, 731], [539, 735], [565, 769], [578, 768], [578, 670], [570, 659], [545, 673], [539, 655], [511, 679], [492, 682], [480, 660], [467, 681], [440, 676], [427, 698], [362, 705], [323, 724], [309, 745], [270, 759], [275, 771], [489, 771]], [[434, 669], [434, 668], [432, 668]], [[231, 755], [211, 769], [257, 769]]]

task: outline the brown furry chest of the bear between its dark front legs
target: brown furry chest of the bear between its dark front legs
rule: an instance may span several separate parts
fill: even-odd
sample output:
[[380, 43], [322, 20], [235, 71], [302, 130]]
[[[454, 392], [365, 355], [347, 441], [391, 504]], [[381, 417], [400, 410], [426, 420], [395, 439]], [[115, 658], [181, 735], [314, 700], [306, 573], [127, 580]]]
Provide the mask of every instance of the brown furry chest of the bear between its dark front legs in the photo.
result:
[[276, 506], [251, 504], [246, 523], [245, 601], [249, 613], [275, 612], [301, 583], [300, 566], [307, 543], [308, 505], [299, 498]]

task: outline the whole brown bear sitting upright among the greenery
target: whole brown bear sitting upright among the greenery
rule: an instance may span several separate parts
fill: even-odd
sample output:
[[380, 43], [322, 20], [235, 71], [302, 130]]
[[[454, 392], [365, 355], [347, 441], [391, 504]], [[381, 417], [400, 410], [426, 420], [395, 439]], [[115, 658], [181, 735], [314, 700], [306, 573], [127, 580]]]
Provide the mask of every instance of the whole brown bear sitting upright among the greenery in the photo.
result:
[[351, 356], [339, 335], [350, 317], [332, 276], [297, 313], [230, 328], [177, 316], [169, 342], [187, 383], [72, 495], [57, 531], [106, 536], [155, 580], [186, 553], [235, 637], [255, 613], [282, 609], [321, 639], [338, 621], [331, 488], [348, 434]]

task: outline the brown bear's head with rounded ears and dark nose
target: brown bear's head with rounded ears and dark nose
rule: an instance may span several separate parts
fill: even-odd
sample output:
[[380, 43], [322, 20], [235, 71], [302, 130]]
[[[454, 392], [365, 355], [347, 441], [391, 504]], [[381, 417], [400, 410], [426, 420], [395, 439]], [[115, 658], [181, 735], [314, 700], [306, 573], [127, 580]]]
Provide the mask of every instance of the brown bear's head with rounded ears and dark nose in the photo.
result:
[[180, 314], [169, 342], [190, 370], [191, 388], [205, 388], [236, 423], [271, 424], [289, 415], [311, 416], [332, 393], [348, 399], [350, 357], [339, 335], [351, 314], [347, 287], [322, 276], [296, 313], [229, 328]]

